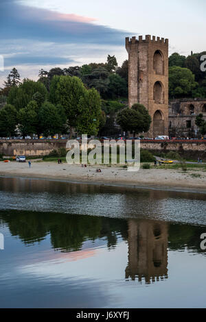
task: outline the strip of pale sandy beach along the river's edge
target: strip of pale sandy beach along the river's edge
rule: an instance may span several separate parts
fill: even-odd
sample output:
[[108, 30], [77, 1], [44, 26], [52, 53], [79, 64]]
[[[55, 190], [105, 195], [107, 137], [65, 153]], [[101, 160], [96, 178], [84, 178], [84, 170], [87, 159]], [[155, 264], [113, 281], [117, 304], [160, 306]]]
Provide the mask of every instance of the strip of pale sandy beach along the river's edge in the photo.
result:
[[[102, 172], [96, 173], [96, 169], [99, 168]], [[181, 169], [160, 169], [157, 167], [157, 169], [140, 169], [137, 172], [129, 172], [121, 166], [101, 165], [82, 168], [80, 164], [32, 161], [32, 166], [29, 168], [27, 162], [0, 162], [0, 176], [34, 177], [145, 188], [183, 188], [184, 190], [206, 192], [206, 171], [200, 169], [190, 169], [183, 173]]]

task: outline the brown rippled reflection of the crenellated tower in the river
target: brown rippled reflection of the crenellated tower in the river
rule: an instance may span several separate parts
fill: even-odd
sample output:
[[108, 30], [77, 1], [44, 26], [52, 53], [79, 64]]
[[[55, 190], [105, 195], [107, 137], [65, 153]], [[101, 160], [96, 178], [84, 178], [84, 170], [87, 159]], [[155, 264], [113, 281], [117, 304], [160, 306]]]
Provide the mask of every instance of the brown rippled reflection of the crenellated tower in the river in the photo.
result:
[[168, 225], [162, 222], [128, 220], [127, 280], [147, 284], [168, 278]]

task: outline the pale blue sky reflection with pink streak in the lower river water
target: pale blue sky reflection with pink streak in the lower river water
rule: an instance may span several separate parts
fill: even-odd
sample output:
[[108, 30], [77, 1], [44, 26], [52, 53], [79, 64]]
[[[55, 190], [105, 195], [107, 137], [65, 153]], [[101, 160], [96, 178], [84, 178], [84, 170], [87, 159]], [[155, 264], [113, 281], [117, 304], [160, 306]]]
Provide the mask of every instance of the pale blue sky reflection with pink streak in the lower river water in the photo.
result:
[[6, 227], [1, 231], [1, 307], [205, 307], [201, 254], [169, 251], [168, 279], [148, 285], [125, 280], [128, 247], [122, 240], [110, 251], [87, 241], [83, 247], [93, 249], [60, 253], [51, 249], [49, 236], [25, 247]]

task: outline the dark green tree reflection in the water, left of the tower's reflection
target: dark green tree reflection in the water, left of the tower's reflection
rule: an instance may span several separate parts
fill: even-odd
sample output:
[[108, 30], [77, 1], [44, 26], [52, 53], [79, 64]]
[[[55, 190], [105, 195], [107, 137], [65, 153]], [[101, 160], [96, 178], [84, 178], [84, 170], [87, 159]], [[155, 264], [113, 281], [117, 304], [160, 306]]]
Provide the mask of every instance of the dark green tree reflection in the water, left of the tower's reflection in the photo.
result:
[[77, 251], [85, 240], [97, 238], [106, 238], [110, 248], [115, 247], [118, 236], [127, 238], [124, 219], [18, 210], [0, 212], [0, 216], [12, 236], [19, 236], [26, 245], [40, 242], [47, 234], [52, 247], [61, 251]]

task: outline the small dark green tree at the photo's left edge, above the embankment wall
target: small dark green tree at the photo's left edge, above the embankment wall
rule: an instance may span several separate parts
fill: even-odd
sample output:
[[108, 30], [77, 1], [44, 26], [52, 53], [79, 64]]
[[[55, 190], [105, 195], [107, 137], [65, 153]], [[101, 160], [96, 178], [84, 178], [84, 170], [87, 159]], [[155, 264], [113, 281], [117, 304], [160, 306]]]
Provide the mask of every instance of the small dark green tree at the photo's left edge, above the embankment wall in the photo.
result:
[[16, 108], [10, 104], [6, 104], [0, 110], [0, 136], [14, 136], [17, 124]]

